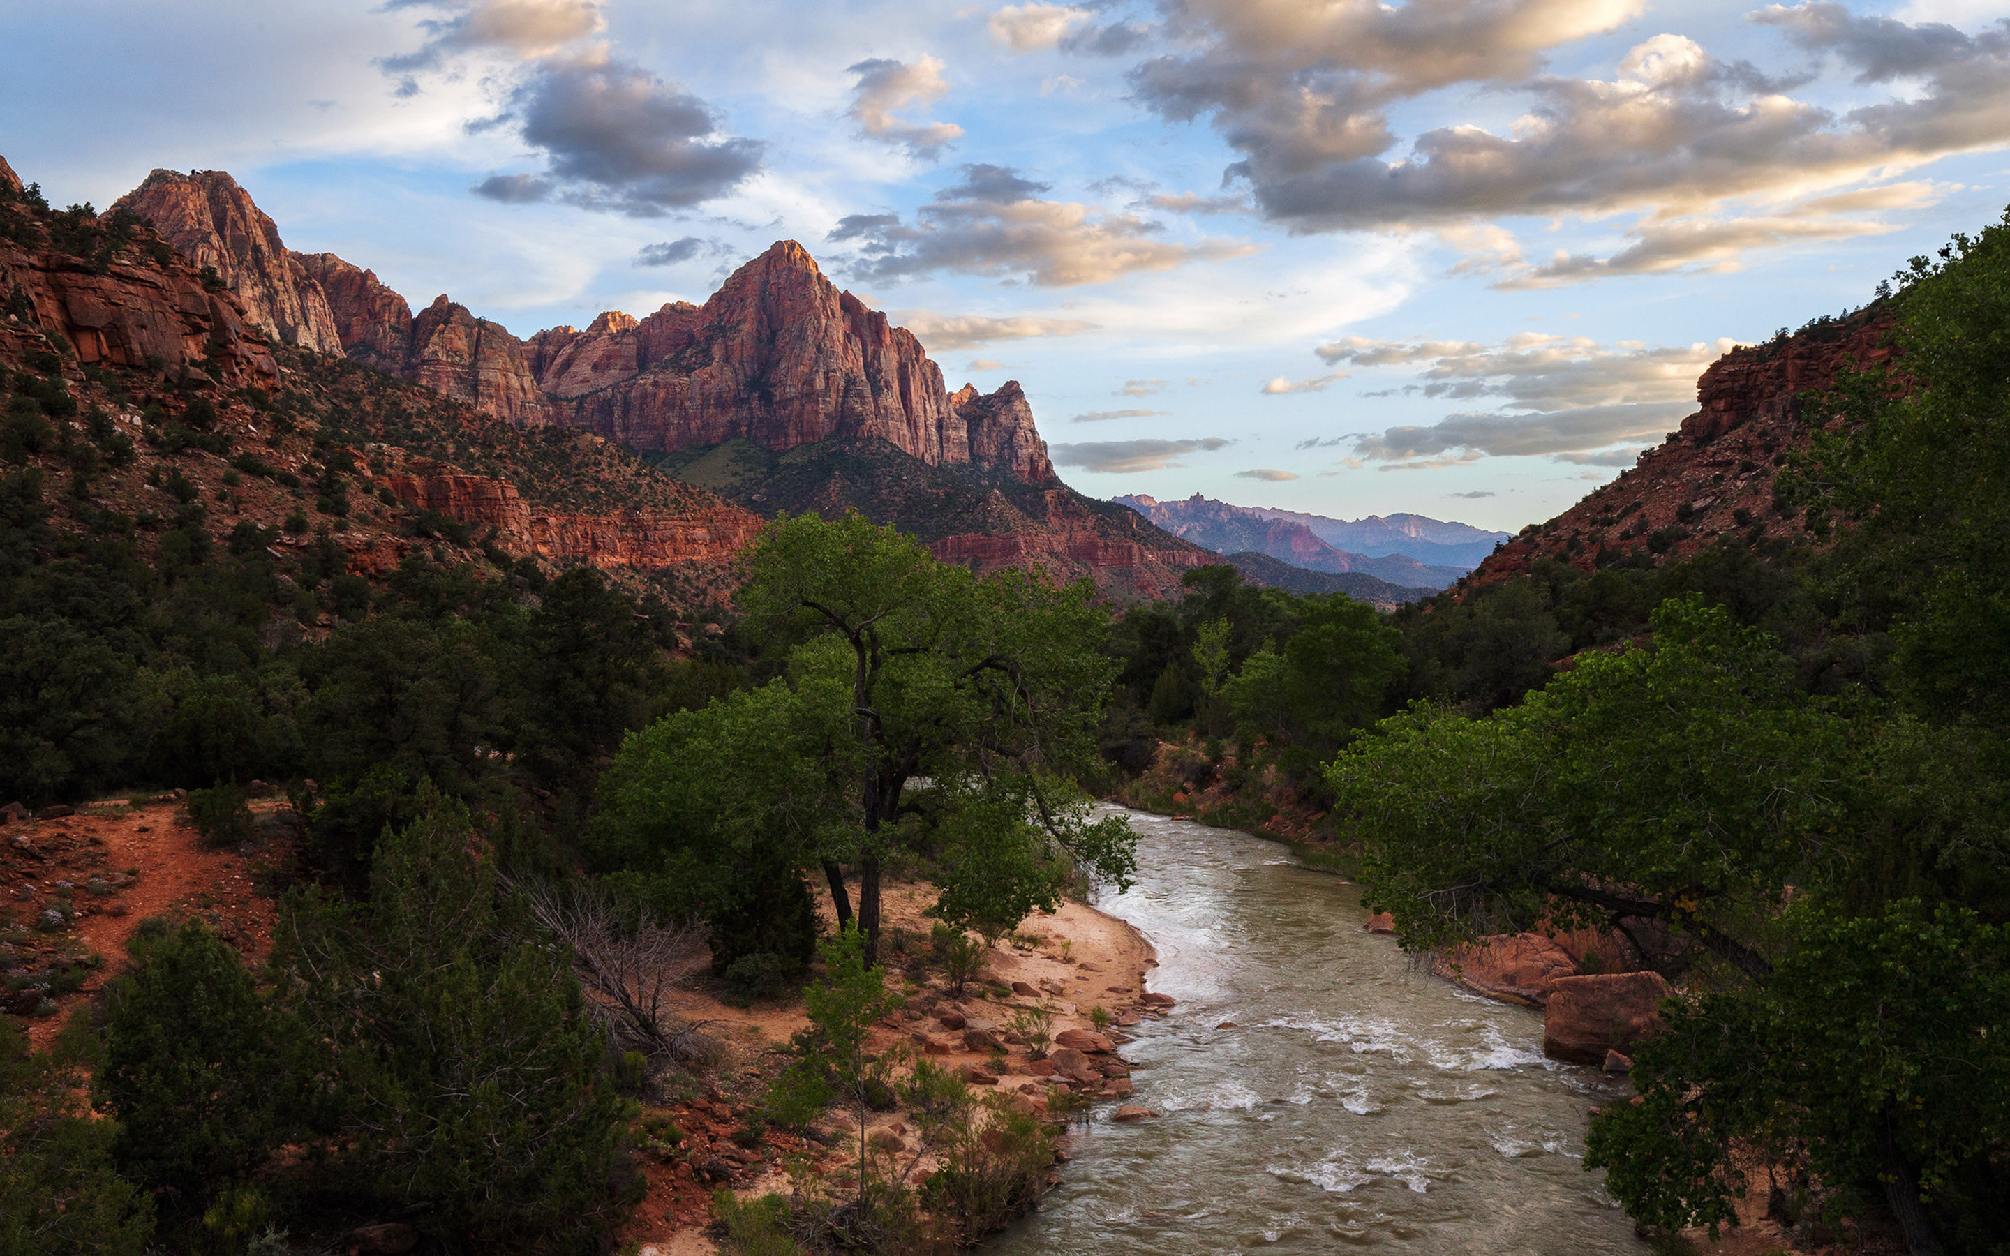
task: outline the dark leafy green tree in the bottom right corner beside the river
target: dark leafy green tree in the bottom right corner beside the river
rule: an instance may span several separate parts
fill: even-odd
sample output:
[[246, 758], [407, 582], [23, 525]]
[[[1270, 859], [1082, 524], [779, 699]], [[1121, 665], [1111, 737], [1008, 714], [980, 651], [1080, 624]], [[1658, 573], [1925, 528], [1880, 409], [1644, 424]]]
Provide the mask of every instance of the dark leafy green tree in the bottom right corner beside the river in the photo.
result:
[[1751, 1149], [1799, 1182], [1881, 1194], [1914, 1252], [2000, 1252], [2010, 1230], [2010, 926], [1918, 900], [1849, 916], [1797, 904], [1763, 987], [1672, 1007], [1634, 1059], [1642, 1101], [1592, 1125], [1628, 1212], [1668, 1230], [1733, 1218]]

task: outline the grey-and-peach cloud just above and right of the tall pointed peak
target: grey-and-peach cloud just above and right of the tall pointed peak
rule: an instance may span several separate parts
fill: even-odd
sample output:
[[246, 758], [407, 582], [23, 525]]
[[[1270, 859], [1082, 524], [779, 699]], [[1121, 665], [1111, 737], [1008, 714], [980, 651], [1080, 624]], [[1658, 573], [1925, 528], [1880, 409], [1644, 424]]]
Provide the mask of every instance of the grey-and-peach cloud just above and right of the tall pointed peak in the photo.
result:
[[[852, 215], [830, 239], [860, 241], [852, 271], [896, 281], [937, 271], [1023, 277], [1041, 287], [1105, 283], [1134, 271], [1164, 271], [1188, 261], [1238, 257], [1252, 245], [1160, 239], [1160, 223], [1108, 213], [1095, 205], [1043, 201], [1049, 191], [1011, 167], [977, 163], [915, 213]], [[892, 219], [892, 221], [886, 221]]]

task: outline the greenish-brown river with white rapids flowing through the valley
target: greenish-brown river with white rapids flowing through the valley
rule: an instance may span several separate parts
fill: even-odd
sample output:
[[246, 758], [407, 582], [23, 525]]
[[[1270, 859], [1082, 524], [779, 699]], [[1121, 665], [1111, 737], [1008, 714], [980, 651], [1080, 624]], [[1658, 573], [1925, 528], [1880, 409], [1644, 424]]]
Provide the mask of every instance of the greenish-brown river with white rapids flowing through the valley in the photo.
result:
[[1160, 1117], [1077, 1127], [1063, 1184], [987, 1252], [1648, 1250], [1582, 1162], [1586, 1109], [1630, 1089], [1544, 1059], [1542, 1013], [1431, 977], [1276, 842], [1103, 812], [1140, 874], [1095, 906], [1180, 1001], [1124, 1047]]

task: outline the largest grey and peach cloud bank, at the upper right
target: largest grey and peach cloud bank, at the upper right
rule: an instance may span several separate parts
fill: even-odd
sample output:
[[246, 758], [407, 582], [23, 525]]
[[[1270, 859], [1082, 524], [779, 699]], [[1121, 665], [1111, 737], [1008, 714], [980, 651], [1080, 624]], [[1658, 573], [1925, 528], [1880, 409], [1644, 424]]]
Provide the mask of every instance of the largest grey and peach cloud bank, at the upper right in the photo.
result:
[[[1727, 62], [1678, 34], [1634, 44], [1610, 78], [1544, 72], [1548, 50], [1620, 28], [1644, 0], [1182, 0], [1172, 12], [1178, 52], [1132, 70], [1136, 96], [1168, 121], [1212, 123], [1240, 153], [1226, 177], [1296, 231], [1719, 215], [2010, 143], [2004, 24], [1964, 34], [1827, 0], [1753, 14], [1859, 84], [1905, 88], [1835, 111], [1791, 94], [1807, 74]], [[1516, 92], [1526, 113], [1397, 133], [1397, 107], [1453, 84]], [[1638, 273], [1680, 235], [1642, 237], [1638, 257], [1598, 273]], [[1725, 257], [1789, 233], [1704, 223], [1688, 237], [1715, 237], [1706, 257]], [[1512, 249], [1491, 259], [1512, 261]]]

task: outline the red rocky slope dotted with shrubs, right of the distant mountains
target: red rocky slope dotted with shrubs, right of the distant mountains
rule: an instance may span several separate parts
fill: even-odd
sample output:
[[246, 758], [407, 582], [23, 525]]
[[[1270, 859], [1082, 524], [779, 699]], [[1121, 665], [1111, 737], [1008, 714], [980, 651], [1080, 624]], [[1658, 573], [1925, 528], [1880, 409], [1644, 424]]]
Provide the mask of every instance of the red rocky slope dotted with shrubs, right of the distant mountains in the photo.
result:
[[1799, 516], [1773, 504], [1787, 450], [1805, 448], [1803, 396], [1843, 370], [1893, 356], [1891, 309], [1869, 305], [1787, 340], [1731, 350], [1696, 380], [1696, 412], [1618, 480], [1570, 510], [1522, 531], [1471, 575], [1493, 581], [1538, 559], [1590, 571], [1600, 551], [1680, 557], [1729, 533], [1799, 537]]

